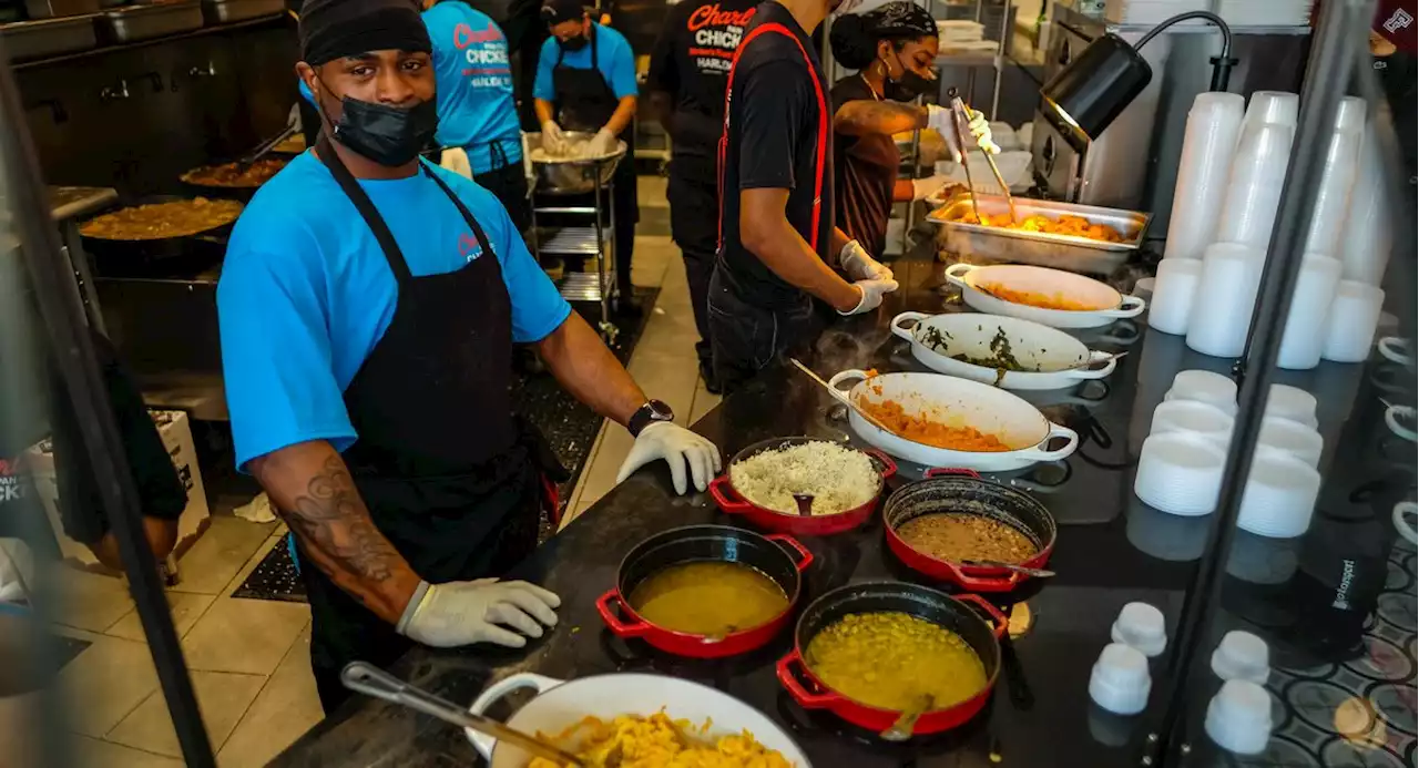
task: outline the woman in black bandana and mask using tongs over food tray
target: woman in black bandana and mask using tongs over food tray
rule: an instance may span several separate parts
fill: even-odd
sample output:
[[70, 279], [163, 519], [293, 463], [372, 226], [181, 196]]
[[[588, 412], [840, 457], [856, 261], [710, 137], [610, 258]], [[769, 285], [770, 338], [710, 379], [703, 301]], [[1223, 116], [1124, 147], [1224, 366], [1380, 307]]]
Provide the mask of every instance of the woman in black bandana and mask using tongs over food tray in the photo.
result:
[[[922, 200], [946, 183], [942, 176], [898, 179], [893, 133], [934, 128], [961, 159], [951, 111], [905, 104], [937, 92], [937, 21], [915, 3], [894, 1], [839, 17], [829, 41], [837, 62], [857, 70], [832, 91], [837, 227], [854, 253], [881, 254], [893, 203]], [[1000, 150], [981, 112], [972, 112], [969, 131], [986, 152]]]

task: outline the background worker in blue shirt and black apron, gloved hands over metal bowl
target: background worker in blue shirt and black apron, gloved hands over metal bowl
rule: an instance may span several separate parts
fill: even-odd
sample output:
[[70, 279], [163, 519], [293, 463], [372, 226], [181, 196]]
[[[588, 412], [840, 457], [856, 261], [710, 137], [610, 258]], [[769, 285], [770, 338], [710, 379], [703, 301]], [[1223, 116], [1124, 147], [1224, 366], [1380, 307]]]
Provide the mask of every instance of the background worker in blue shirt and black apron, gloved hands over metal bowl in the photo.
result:
[[630, 260], [639, 219], [636, 197], [636, 57], [616, 30], [596, 24], [582, 0], [545, 0], [542, 18], [552, 33], [536, 64], [536, 118], [543, 145], [556, 152], [563, 131], [595, 133], [592, 150], [612, 152], [626, 142], [616, 168], [616, 282], [620, 308], [634, 314]]

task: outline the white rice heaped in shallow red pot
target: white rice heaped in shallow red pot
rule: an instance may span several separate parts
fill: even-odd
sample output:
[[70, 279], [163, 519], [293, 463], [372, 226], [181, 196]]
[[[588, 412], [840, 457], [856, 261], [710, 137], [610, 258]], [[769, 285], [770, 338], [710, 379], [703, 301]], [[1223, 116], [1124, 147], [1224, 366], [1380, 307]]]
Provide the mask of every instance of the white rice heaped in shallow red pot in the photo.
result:
[[799, 514], [793, 494], [810, 494], [815, 515], [861, 507], [880, 478], [871, 459], [829, 441], [772, 449], [729, 466], [729, 483], [745, 500], [790, 515]]

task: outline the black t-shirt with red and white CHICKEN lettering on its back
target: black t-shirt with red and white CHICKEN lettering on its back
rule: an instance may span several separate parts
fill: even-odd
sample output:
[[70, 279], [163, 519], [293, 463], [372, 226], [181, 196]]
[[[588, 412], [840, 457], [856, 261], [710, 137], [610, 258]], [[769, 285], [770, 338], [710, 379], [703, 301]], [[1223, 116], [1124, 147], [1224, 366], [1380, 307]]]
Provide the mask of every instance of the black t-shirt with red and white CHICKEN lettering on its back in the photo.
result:
[[670, 119], [675, 170], [712, 182], [724, 132], [724, 84], [756, 0], [683, 0], [670, 6], [650, 53], [647, 87], [674, 99]]

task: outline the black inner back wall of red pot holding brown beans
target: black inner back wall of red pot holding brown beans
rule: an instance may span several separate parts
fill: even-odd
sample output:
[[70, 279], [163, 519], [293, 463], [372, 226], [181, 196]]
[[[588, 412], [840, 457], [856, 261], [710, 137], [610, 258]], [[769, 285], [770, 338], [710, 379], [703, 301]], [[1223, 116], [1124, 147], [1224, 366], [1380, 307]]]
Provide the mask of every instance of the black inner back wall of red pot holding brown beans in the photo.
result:
[[1034, 552], [1054, 544], [1054, 518], [1023, 491], [975, 477], [931, 477], [897, 488], [883, 521], [893, 530], [927, 514], [971, 514], [1003, 522], [1023, 534]]

